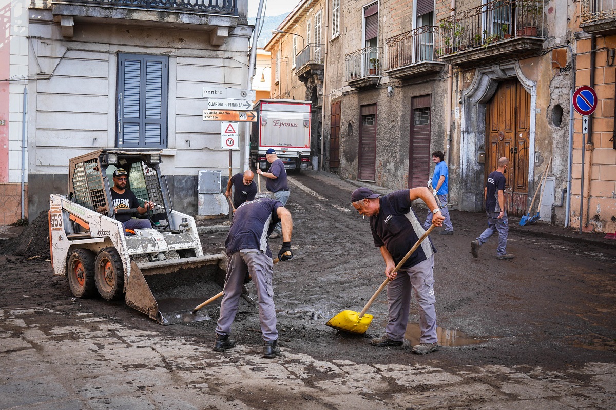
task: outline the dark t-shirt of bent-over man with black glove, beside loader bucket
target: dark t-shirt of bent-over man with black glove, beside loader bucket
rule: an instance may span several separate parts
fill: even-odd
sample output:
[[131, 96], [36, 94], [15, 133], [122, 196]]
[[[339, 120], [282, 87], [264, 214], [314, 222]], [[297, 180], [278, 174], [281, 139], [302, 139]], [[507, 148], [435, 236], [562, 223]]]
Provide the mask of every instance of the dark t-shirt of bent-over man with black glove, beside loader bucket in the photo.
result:
[[259, 198], [244, 202], [233, 215], [225, 246], [227, 254], [242, 249], [260, 249], [270, 258], [272, 251], [267, 238], [274, 231], [274, 226], [280, 222], [276, 210], [282, 203], [275, 199]]

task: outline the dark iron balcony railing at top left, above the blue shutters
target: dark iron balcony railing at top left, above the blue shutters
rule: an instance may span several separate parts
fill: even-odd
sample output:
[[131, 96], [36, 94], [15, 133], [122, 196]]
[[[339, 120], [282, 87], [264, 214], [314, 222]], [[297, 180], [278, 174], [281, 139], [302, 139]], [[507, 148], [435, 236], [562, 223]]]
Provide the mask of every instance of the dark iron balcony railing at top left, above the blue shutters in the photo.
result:
[[237, 0], [52, 0], [52, 2], [237, 15]]

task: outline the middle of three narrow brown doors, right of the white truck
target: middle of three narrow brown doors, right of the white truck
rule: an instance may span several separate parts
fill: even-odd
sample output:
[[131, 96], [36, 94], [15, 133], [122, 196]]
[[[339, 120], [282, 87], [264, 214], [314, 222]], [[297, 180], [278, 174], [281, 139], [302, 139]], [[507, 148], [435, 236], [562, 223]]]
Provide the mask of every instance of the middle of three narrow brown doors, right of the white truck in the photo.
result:
[[375, 181], [376, 167], [376, 104], [363, 105], [359, 109], [359, 171], [357, 179]]

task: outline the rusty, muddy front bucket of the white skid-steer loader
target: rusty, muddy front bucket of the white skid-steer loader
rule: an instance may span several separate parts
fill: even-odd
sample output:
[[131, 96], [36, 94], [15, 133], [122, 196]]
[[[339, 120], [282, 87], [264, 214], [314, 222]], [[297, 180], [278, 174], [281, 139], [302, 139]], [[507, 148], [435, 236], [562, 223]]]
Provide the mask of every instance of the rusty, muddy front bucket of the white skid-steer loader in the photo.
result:
[[220, 253], [169, 261], [131, 262], [126, 304], [160, 325], [209, 320], [193, 307], [219, 293], [227, 257]]

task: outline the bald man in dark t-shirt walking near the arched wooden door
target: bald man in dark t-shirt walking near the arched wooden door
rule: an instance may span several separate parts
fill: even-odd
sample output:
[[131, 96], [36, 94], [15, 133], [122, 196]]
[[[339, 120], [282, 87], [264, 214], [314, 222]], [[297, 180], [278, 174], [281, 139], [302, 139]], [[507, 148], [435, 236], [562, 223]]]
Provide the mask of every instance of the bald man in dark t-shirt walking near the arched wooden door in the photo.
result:
[[498, 247], [496, 247], [496, 259], [513, 259], [513, 253], [507, 253], [507, 236], [509, 223], [505, 212], [505, 173], [509, 167], [509, 159], [502, 157], [498, 160], [498, 168], [488, 175], [485, 183], [484, 199], [485, 213], [488, 214], [488, 227], [479, 235], [479, 238], [471, 242], [471, 253], [474, 258], [479, 256], [479, 248], [488, 240], [494, 232], [498, 232]]

